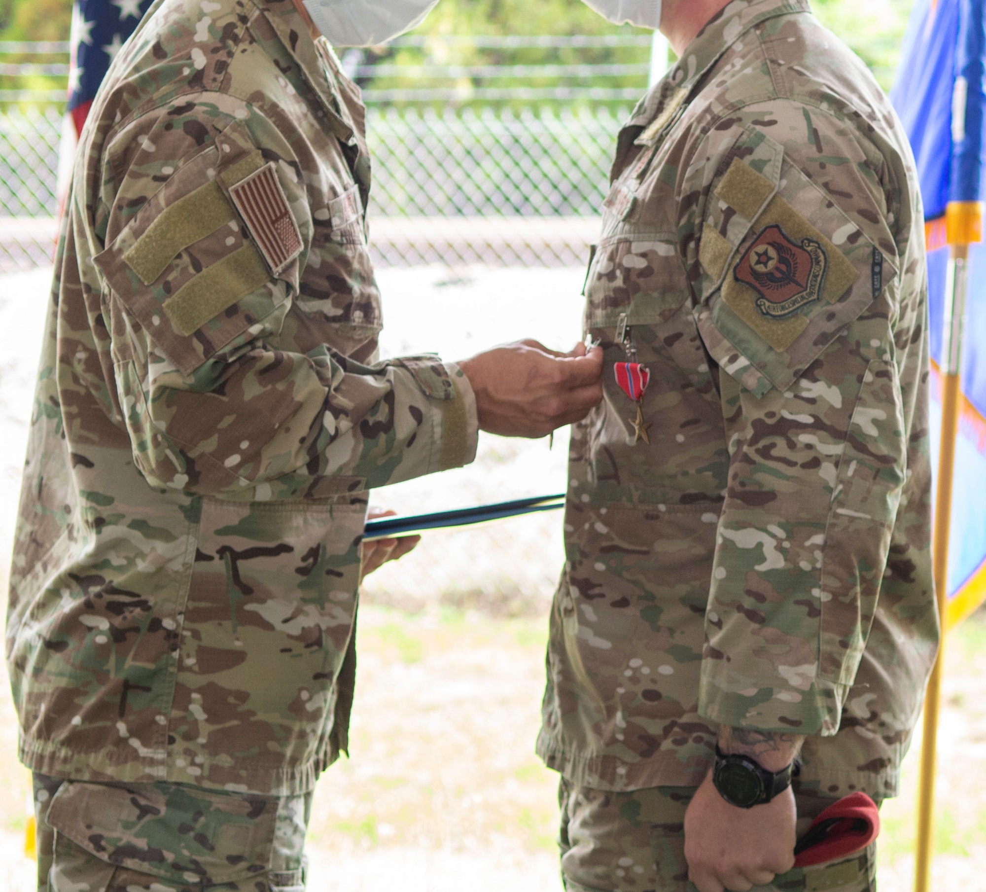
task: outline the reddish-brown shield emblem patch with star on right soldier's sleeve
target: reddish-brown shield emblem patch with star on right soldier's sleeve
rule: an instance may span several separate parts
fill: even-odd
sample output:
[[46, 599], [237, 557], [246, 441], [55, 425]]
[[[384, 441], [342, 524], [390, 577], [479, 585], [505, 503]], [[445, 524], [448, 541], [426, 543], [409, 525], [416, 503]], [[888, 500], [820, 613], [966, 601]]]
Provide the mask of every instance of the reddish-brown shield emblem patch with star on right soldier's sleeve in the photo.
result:
[[733, 269], [758, 295], [756, 309], [783, 319], [821, 297], [825, 252], [814, 239], [789, 239], [780, 226], [763, 229]]

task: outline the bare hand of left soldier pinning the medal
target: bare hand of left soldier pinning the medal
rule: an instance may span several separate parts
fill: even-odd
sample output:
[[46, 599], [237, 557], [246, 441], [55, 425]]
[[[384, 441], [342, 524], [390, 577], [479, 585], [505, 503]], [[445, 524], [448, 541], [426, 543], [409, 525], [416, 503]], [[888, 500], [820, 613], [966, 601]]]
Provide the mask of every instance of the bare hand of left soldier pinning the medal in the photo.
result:
[[602, 400], [602, 350], [549, 350], [520, 340], [458, 363], [476, 396], [479, 426], [509, 437], [543, 437], [584, 418]]

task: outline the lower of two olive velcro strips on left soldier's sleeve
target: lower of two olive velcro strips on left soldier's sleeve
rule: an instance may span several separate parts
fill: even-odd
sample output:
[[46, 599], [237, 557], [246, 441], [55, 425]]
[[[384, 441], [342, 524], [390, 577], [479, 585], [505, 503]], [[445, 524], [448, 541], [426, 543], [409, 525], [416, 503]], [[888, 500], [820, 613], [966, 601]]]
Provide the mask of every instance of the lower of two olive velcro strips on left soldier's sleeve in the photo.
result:
[[247, 244], [178, 288], [164, 310], [178, 335], [191, 335], [271, 280], [259, 253]]

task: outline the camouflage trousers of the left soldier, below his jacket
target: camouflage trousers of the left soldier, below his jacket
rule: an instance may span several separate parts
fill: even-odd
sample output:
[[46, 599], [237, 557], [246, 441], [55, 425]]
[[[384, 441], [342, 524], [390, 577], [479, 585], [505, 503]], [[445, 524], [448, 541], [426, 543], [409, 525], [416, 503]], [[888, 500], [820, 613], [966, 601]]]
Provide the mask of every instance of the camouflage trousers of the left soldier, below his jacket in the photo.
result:
[[312, 793], [35, 774], [37, 892], [305, 892]]

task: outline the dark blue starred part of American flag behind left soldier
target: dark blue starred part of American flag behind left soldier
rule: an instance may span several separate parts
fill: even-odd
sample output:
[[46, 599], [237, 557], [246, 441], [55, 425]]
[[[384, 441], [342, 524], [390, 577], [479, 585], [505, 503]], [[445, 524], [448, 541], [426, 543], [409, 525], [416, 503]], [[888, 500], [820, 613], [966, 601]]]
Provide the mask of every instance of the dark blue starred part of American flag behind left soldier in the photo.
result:
[[82, 132], [113, 57], [133, 34], [152, 0], [75, 0], [68, 110]]

